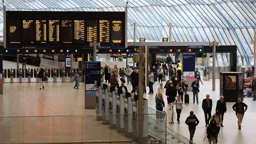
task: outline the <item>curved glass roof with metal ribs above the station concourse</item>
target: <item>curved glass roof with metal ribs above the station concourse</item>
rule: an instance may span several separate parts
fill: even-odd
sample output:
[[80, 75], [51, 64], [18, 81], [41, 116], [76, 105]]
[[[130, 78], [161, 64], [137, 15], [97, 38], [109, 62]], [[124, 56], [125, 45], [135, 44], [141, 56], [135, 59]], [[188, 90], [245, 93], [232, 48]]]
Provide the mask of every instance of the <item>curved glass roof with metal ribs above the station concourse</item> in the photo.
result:
[[[150, 41], [169, 37], [172, 23], [172, 41], [237, 45], [238, 64], [253, 64], [256, 0], [5, 0], [4, 4], [10, 11], [124, 11], [127, 1], [129, 40], [134, 23], [136, 40]], [[3, 11], [0, 15], [3, 22]], [[223, 54], [217, 59], [229, 60]]]

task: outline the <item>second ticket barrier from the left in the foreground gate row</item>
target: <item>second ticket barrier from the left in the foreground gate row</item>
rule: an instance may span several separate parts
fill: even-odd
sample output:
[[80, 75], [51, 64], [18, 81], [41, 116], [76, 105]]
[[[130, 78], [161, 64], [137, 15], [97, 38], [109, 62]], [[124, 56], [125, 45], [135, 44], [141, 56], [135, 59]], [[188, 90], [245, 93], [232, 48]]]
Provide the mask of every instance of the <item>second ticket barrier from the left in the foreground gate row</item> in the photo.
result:
[[102, 89], [102, 120], [103, 120], [103, 124], [109, 124], [108, 108], [109, 108], [108, 85], [103, 84], [103, 89]]

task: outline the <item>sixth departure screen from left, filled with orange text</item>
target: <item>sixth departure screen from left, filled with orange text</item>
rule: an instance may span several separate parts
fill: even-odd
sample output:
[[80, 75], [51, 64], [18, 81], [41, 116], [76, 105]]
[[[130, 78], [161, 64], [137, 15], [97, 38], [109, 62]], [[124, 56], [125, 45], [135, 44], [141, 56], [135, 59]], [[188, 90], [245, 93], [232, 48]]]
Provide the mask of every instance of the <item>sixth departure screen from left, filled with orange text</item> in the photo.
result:
[[74, 20], [74, 43], [84, 43], [84, 20]]

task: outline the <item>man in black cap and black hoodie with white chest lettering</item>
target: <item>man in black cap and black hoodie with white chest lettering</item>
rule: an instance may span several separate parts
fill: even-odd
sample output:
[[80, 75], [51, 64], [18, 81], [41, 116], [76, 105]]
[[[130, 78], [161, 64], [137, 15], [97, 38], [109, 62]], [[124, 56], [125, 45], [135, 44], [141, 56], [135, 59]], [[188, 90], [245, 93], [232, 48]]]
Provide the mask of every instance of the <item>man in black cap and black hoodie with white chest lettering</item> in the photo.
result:
[[[194, 115], [193, 111], [190, 111], [190, 115], [187, 117], [185, 123], [188, 125], [190, 141], [193, 141], [193, 137], [196, 131], [196, 126], [199, 124], [199, 120], [197, 119], [196, 115]], [[192, 143], [190, 141], [189, 143]]]

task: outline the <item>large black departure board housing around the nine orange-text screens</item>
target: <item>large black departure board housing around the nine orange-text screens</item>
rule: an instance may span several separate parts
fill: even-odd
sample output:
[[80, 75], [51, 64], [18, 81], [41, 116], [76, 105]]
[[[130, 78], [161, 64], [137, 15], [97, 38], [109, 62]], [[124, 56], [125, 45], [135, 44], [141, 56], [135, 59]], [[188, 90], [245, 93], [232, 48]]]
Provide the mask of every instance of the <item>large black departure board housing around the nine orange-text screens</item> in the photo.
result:
[[[9, 39], [9, 28], [10, 28], [10, 20], [19, 20], [20, 21], [20, 30], [19, 33], [19, 41], [20, 43], [10, 43]], [[23, 29], [23, 20], [33, 20], [31, 29]], [[36, 20], [46, 20], [46, 42], [41, 43], [41, 41], [36, 41]], [[59, 20], [59, 39], [58, 41], [50, 41], [50, 33], [49, 33], [49, 21], [50, 20]], [[62, 37], [62, 20], [71, 20], [72, 21], [72, 30], [69, 29], [69, 38], [72, 38], [72, 41], [69, 43], [64, 43]], [[75, 41], [75, 20], [84, 20], [84, 40], [80, 43], [76, 43]], [[109, 41], [101, 42], [102, 46], [124, 46], [125, 45], [125, 13], [124, 12], [38, 12], [38, 11], [6, 11], [6, 46], [88, 46], [89, 42], [87, 41], [87, 21], [97, 21], [97, 42], [100, 42], [100, 20], [108, 20], [109, 21]], [[122, 21], [122, 43], [112, 43], [112, 20], [121, 20]], [[88, 23], [89, 25], [89, 23]], [[95, 25], [95, 24], [94, 24]], [[71, 31], [71, 32], [70, 32]], [[30, 34], [33, 39], [29, 38], [29, 40], [25, 39], [23, 32], [27, 35]], [[55, 31], [54, 31], [55, 32]], [[95, 32], [95, 29], [93, 30]], [[44, 32], [43, 32], [44, 33]], [[72, 33], [72, 34], [70, 34]], [[26, 35], [26, 36], [27, 36]], [[52, 34], [51, 34], [52, 36]], [[55, 36], [55, 33], [54, 33]], [[24, 42], [23, 42], [24, 41]], [[26, 41], [26, 43], [25, 43]]]

